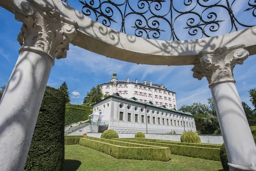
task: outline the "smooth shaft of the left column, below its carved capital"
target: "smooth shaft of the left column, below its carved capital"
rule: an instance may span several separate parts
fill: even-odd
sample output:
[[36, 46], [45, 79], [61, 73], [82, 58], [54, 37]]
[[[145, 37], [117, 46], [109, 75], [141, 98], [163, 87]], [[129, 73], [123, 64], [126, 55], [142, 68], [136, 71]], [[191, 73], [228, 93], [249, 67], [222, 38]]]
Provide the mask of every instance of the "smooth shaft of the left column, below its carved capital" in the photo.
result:
[[52, 65], [39, 53], [20, 53], [0, 102], [1, 171], [24, 170]]

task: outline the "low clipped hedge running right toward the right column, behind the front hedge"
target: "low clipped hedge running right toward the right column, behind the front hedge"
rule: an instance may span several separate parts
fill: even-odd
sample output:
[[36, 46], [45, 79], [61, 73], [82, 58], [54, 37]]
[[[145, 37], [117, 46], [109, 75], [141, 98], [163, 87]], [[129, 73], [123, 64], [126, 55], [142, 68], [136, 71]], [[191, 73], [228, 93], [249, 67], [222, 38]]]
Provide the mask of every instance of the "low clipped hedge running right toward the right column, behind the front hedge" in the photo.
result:
[[195, 146], [180, 146], [180, 145], [166, 144], [166, 143], [160, 143], [160, 142], [153, 143], [153, 142], [135, 141], [135, 140], [127, 140], [127, 139], [115, 139], [115, 140], [131, 142], [131, 143], [140, 143], [140, 144], [151, 145], [151, 146], [169, 147], [172, 154], [207, 159], [207, 160], [221, 161], [219, 156], [220, 149], [195, 147]]

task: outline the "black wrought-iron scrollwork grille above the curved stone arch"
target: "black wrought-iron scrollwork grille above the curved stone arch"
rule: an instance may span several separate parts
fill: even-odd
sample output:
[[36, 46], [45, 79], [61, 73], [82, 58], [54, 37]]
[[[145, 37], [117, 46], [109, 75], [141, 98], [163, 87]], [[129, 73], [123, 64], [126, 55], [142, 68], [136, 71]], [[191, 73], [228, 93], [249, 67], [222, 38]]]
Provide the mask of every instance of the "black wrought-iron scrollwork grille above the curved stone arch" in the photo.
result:
[[[67, 0], [64, 1], [67, 3]], [[197, 36], [197, 38], [210, 37], [213, 33], [222, 30], [223, 28], [219, 29], [221, 28], [221, 22], [229, 22], [230, 30], [227, 33], [238, 31], [239, 28], [254, 26], [239, 21], [233, 13], [232, 8], [238, 1], [79, 0], [83, 5], [81, 11], [84, 15], [107, 27], [111, 27], [113, 23], [115, 25], [119, 24], [119, 31], [125, 34], [128, 34], [128, 29], [134, 28], [135, 36], [147, 39], [160, 39], [161, 34], [168, 31], [170, 34], [164, 39], [174, 41], [182, 39], [177, 34], [177, 30], [180, 31], [180, 28], [176, 27], [180, 25], [178, 22], [186, 16], [189, 17], [186, 18], [186, 26], [182, 29], [187, 30], [190, 36]], [[244, 11], [251, 11], [252, 17], [256, 17], [256, 0], [248, 0], [247, 6], [248, 8], [245, 8]], [[182, 11], [183, 8], [186, 8], [186, 11]], [[218, 16], [221, 10], [227, 14], [224, 19], [221, 18], [222, 16]], [[120, 17], [120, 22], [116, 20], [116, 15]], [[136, 16], [133, 25], [130, 24], [130, 19], [127, 20], [131, 16], [133, 18]], [[185, 21], [182, 20], [183, 24]]]

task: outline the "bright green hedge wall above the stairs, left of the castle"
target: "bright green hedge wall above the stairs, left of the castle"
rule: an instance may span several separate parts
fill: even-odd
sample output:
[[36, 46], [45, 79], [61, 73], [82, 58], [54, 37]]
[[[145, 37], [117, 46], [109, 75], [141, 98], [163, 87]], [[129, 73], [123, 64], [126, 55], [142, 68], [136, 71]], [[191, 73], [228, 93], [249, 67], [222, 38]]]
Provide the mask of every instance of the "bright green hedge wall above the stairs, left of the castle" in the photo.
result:
[[92, 112], [93, 105], [66, 104], [65, 125], [85, 121], [88, 119], [88, 115], [92, 114]]

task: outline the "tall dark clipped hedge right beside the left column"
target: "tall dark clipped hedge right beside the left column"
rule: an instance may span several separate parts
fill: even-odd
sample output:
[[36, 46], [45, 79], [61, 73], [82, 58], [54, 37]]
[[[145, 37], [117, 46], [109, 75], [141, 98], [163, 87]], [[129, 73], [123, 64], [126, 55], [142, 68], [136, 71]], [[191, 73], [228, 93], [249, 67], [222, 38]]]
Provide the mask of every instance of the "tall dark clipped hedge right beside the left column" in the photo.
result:
[[47, 86], [26, 160], [26, 171], [63, 170], [64, 117], [64, 94]]

